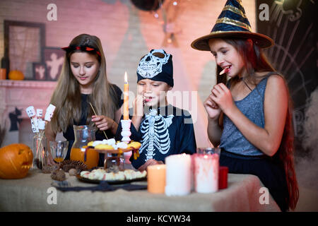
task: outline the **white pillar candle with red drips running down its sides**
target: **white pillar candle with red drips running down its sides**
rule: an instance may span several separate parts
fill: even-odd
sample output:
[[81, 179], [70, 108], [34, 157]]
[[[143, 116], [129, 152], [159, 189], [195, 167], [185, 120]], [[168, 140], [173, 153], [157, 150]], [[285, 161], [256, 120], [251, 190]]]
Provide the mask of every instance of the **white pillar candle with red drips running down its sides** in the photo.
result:
[[194, 188], [199, 193], [218, 191], [218, 154], [194, 154]]

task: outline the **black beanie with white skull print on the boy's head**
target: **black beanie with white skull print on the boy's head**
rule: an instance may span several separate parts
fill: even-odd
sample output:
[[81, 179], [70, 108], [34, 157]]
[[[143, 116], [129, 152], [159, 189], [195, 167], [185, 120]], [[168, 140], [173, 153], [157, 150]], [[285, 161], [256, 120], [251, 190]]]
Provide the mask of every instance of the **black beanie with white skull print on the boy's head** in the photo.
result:
[[172, 55], [167, 54], [163, 49], [151, 49], [151, 52], [139, 62], [137, 77], [137, 82], [151, 79], [165, 82], [173, 87]]

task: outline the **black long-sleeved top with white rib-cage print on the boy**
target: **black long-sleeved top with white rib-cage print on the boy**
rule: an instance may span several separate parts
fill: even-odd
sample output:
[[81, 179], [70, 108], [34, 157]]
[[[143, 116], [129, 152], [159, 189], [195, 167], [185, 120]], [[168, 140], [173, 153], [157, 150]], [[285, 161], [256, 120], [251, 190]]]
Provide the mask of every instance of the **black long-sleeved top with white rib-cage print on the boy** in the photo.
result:
[[[116, 133], [117, 141], [122, 139], [121, 132], [122, 124], [119, 123]], [[136, 160], [133, 155], [130, 158], [131, 164], [136, 169], [151, 158], [165, 162], [165, 157], [168, 155], [196, 153], [196, 138], [191, 114], [172, 105], [158, 108], [157, 111], [150, 109], [143, 116], [139, 131], [136, 131], [131, 124], [130, 138], [141, 142], [140, 156]]]

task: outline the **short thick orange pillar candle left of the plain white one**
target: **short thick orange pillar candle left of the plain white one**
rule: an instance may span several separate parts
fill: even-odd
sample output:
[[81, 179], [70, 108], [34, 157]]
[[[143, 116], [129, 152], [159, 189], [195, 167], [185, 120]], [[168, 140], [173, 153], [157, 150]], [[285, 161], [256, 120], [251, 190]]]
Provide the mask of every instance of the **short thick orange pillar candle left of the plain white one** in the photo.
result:
[[165, 193], [165, 165], [150, 165], [147, 167], [148, 192]]

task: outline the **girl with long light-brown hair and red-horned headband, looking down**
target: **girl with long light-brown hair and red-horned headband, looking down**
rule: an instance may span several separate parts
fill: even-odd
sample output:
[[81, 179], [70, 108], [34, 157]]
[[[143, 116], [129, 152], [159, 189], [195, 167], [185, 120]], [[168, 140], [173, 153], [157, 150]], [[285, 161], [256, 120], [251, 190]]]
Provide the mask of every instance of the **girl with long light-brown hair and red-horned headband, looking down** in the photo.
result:
[[[96, 140], [105, 139], [105, 134], [107, 138], [114, 137], [122, 115], [122, 90], [107, 80], [105, 55], [98, 37], [81, 34], [62, 49], [66, 51], [64, 64], [50, 101], [56, 109], [45, 133], [47, 141], [54, 141], [57, 133], [63, 132], [69, 141], [69, 159], [73, 125], [96, 126]], [[102, 157], [99, 165], [103, 164]]]

